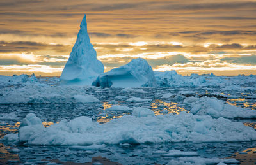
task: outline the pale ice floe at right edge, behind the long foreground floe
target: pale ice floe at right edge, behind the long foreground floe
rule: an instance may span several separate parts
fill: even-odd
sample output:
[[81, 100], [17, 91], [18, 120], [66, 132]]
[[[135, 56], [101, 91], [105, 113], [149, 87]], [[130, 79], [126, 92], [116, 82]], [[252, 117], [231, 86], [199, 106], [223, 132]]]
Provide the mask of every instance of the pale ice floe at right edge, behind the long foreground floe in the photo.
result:
[[256, 118], [255, 110], [232, 106], [216, 97], [189, 97], [184, 103], [190, 102], [189, 99], [193, 101], [190, 112], [194, 115], [210, 115], [213, 118]]

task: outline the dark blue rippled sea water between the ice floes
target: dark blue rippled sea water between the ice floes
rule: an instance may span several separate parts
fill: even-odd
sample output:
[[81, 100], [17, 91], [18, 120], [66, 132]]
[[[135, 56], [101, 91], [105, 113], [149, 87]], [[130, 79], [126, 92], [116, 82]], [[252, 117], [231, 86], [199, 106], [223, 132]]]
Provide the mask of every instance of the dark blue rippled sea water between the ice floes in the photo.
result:
[[[241, 81], [243, 78], [241, 78]], [[38, 78], [38, 82], [53, 87], [60, 86], [58, 78]], [[255, 87], [256, 82], [243, 83], [241, 88]], [[23, 83], [0, 83], [0, 89], [22, 89]], [[28, 85], [27, 85], [28, 86]], [[35, 87], [34, 87], [35, 88]], [[72, 90], [72, 89], [69, 89]], [[66, 92], [70, 92], [70, 91]], [[92, 118], [93, 122], [104, 124], [110, 120], [117, 120], [124, 115], [131, 115], [132, 111], [108, 110], [113, 105], [145, 107], [154, 111], [155, 115], [166, 115], [180, 112], [189, 113], [191, 105], [184, 104], [186, 97], [216, 97], [232, 106], [248, 108], [256, 111], [255, 90], [223, 90], [223, 87], [141, 87], [134, 89], [86, 87], [86, 94], [100, 100], [98, 103], [58, 103], [58, 101], [3, 103], [0, 104], [0, 138], [9, 133], [17, 133], [20, 122], [28, 113], [34, 113], [40, 118], [45, 127], [61, 120], [72, 120], [80, 116]], [[65, 91], [64, 91], [65, 92]], [[166, 95], [167, 94], [167, 95]], [[120, 97], [116, 97], [120, 96]], [[125, 97], [124, 97], [125, 96]], [[168, 96], [168, 97], [163, 97]], [[23, 97], [17, 94], [17, 97]], [[138, 97], [145, 101], [126, 101], [127, 98]], [[1, 97], [0, 97], [1, 99]], [[15, 99], [15, 98], [13, 98]], [[51, 102], [51, 101], [50, 101]], [[243, 122], [248, 127], [256, 129], [255, 118], [232, 118], [234, 122]], [[169, 150], [197, 152], [198, 157], [204, 158], [235, 158], [241, 164], [256, 162], [256, 141], [249, 142], [214, 142], [214, 143], [143, 143], [106, 145], [103, 148], [81, 150], [68, 145], [29, 145], [28, 143], [0, 142], [0, 164], [47, 164], [56, 162], [64, 164], [95, 163], [95, 164], [167, 164], [178, 157], [164, 156]]]

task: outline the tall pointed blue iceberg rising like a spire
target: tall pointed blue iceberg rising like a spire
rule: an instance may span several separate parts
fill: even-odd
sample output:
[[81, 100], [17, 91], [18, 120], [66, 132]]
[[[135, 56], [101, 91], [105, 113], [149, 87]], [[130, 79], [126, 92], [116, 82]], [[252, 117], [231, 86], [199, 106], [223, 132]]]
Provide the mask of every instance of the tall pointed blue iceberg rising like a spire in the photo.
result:
[[80, 25], [76, 43], [61, 74], [61, 82], [91, 85], [104, 72], [102, 62], [97, 60], [96, 51], [90, 43], [86, 15]]

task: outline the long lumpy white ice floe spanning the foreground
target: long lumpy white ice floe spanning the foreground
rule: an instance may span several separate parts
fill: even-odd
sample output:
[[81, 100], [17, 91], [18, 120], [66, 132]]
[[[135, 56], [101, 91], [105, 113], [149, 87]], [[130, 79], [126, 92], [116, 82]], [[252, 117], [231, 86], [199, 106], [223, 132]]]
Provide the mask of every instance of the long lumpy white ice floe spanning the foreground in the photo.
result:
[[106, 124], [89, 117], [62, 120], [44, 127], [35, 115], [27, 115], [19, 129], [19, 142], [31, 145], [92, 145], [120, 143], [170, 143], [253, 141], [256, 131], [225, 118], [180, 113], [134, 117], [125, 115]]

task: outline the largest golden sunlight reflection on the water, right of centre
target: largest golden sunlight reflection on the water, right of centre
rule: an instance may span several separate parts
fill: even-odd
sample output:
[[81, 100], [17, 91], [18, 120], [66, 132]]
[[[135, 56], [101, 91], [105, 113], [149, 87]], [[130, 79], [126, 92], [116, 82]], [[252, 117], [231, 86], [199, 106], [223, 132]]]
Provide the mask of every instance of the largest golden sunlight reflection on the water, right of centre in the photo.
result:
[[[163, 107], [163, 109], [157, 109], [160, 107]], [[151, 108], [152, 111], [154, 111], [155, 115], [161, 115], [163, 114], [163, 111], [167, 110], [168, 113], [175, 113], [175, 114], [179, 114], [180, 111], [187, 111], [185, 108], [180, 107], [179, 103], [175, 103], [175, 102], [164, 102], [161, 100], [156, 100], [154, 101], [154, 103], [151, 104]]]

